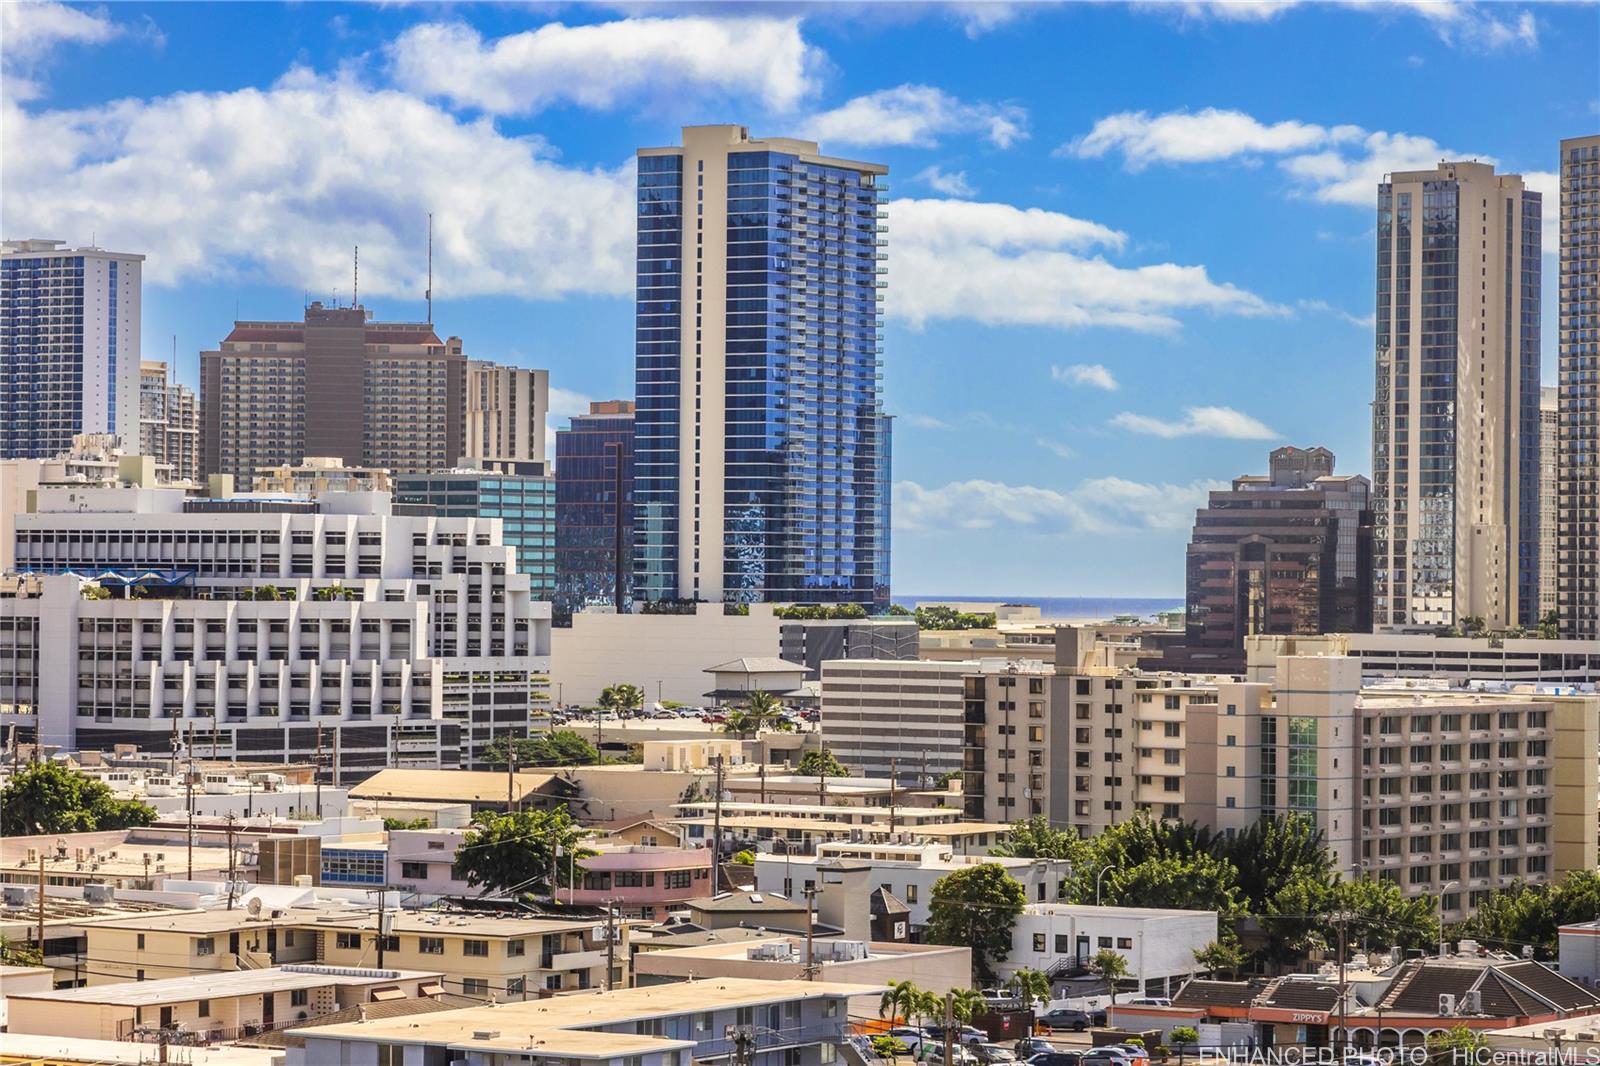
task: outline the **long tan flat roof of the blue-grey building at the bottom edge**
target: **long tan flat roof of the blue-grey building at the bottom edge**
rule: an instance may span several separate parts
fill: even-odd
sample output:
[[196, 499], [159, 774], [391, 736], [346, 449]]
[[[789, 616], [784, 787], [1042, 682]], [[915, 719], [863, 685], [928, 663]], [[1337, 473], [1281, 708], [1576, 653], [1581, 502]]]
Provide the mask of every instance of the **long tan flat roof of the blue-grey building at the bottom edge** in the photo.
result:
[[[714, 978], [707, 981], [682, 981], [650, 988], [626, 988], [611, 992], [555, 996], [552, 999], [494, 1007], [467, 1007], [442, 1010], [432, 1015], [397, 1018], [392, 1021], [366, 1021], [341, 1026], [318, 1026], [304, 1031], [307, 1039], [347, 1040], [403, 1040], [406, 1044], [434, 1044], [448, 1047], [530, 1047], [530, 1040], [555, 1037], [552, 1031], [619, 1024], [669, 1015], [722, 1010], [731, 1007], [757, 1007], [802, 999], [837, 999], [850, 996], [877, 996], [882, 984], [842, 984], [835, 981], [762, 981], [752, 978]], [[474, 1040], [474, 1032], [496, 1031], [517, 1034], [523, 1040], [507, 1045], [502, 1037]], [[526, 1036], [523, 1036], [526, 1034]], [[632, 1034], [602, 1034], [605, 1037], [634, 1037]], [[565, 1039], [565, 1037], [562, 1037]], [[648, 1047], [680, 1047], [656, 1037]], [[576, 1045], [576, 1042], [574, 1042]], [[595, 1052], [602, 1053], [602, 1052]]]

